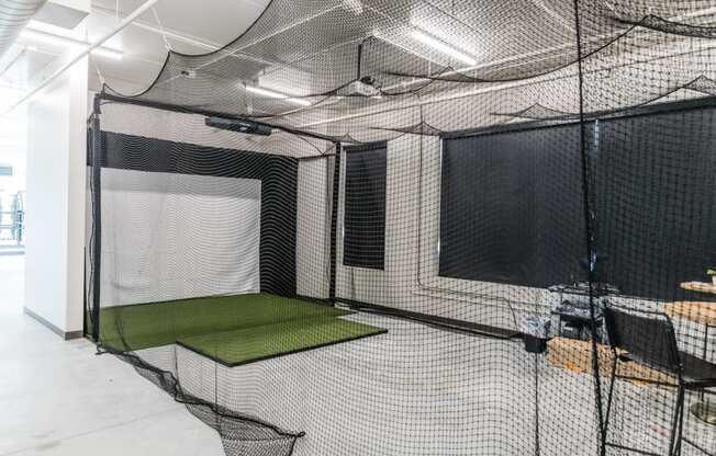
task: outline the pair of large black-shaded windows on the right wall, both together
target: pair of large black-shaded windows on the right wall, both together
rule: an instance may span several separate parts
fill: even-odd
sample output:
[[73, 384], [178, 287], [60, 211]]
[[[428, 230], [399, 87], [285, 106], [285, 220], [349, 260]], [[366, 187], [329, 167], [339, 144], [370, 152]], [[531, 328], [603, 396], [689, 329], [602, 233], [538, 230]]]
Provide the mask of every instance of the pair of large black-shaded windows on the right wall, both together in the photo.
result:
[[[636, 115], [635, 115], [636, 114]], [[590, 122], [596, 280], [675, 300], [716, 264], [716, 109]], [[443, 139], [439, 275], [546, 287], [584, 280], [580, 126]]]

